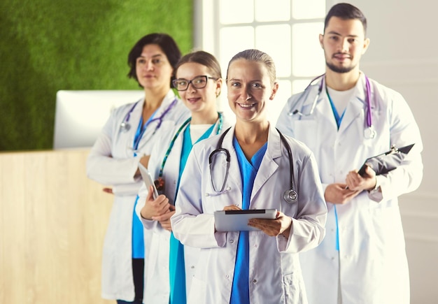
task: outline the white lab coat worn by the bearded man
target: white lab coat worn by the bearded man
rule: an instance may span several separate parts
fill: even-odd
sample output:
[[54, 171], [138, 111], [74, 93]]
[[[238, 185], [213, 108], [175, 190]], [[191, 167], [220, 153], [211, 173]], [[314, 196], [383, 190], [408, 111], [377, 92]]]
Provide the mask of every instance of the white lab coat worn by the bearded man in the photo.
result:
[[415, 143], [401, 166], [378, 176], [381, 193], [363, 191], [349, 203], [336, 205], [339, 252], [335, 248], [334, 205], [327, 202], [323, 243], [299, 255], [311, 304], [337, 304], [339, 284], [343, 304], [409, 303], [409, 273], [397, 196], [414, 191], [421, 183], [423, 144], [403, 97], [369, 81], [375, 138], [364, 138], [367, 106], [363, 73], [339, 131], [325, 85], [313, 115], [289, 115], [296, 109], [309, 113], [319, 83], [309, 89], [307, 97], [299, 99], [302, 93], [292, 96], [278, 118], [278, 129], [301, 140], [315, 154], [323, 189], [327, 184], [345, 182], [349, 171], [359, 169], [365, 159], [388, 151], [391, 145]]

